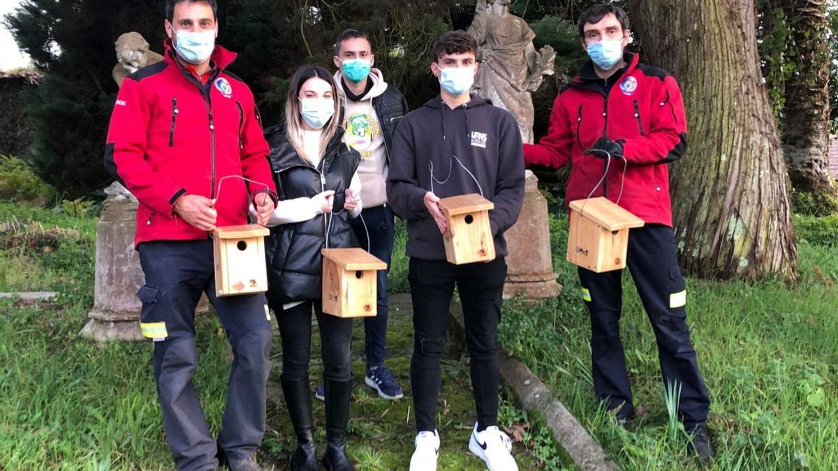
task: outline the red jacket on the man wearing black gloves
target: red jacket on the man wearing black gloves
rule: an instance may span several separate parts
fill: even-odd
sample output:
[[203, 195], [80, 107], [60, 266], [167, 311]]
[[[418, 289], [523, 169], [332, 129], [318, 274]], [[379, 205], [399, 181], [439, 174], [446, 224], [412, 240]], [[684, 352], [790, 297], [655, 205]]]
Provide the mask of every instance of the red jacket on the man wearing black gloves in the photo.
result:
[[598, 78], [591, 63], [559, 93], [550, 129], [538, 144], [524, 145], [525, 163], [572, 165], [566, 201], [585, 199], [605, 172], [604, 161], [583, 155], [600, 137], [623, 143], [625, 162], [613, 160], [608, 178], [593, 193], [607, 196], [647, 224], [672, 225], [669, 168], [686, 150], [686, 116], [678, 83], [663, 70], [628, 64], [610, 79]]

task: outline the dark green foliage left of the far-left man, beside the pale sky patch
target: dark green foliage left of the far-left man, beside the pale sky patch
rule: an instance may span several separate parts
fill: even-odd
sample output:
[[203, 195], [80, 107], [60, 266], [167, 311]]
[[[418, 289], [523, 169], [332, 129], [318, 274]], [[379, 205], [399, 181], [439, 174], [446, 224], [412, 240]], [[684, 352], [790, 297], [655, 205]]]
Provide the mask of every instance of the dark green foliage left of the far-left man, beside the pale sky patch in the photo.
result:
[[35, 127], [30, 158], [60, 193], [75, 198], [108, 184], [101, 162], [116, 94], [113, 44], [132, 30], [160, 44], [162, 12], [163, 2], [145, 0], [27, 0], [5, 18], [44, 72], [26, 109]]

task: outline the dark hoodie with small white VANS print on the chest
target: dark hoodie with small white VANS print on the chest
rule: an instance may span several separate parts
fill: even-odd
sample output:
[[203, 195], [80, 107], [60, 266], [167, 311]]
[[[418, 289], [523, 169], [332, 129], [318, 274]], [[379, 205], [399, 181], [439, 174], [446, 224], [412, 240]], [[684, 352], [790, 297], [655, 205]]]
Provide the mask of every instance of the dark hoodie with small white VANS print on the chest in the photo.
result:
[[407, 220], [407, 256], [445, 260], [442, 234], [425, 208], [428, 191], [446, 198], [481, 189], [494, 203], [489, 221], [495, 253], [506, 256], [504, 231], [518, 220], [524, 179], [520, 131], [509, 111], [476, 95], [453, 110], [437, 96], [411, 111], [396, 128], [387, 178], [392, 210]]

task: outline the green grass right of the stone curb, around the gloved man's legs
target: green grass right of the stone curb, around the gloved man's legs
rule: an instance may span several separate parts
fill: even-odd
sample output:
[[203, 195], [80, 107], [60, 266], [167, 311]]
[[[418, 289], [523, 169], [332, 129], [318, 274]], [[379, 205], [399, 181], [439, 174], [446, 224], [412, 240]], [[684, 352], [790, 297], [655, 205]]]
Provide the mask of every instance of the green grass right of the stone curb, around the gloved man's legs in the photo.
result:
[[[508, 303], [501, 343], [551, 384], [622, 468], [698, 468], [685, 433], [670, 439], [654, 334], [628, 275], [621, 334], [635, 406], [648, 415], [623, 428], [595, 401], [590, 325], [576, 269], [563, 260], [565, 221], [551, 216], [564, 292], [534, 306]], [[838, 251], [801, 243], [799, 255], [802, 279], [794, 287], [687, 280], [717, 469], [831, 469], [838, 462]]]

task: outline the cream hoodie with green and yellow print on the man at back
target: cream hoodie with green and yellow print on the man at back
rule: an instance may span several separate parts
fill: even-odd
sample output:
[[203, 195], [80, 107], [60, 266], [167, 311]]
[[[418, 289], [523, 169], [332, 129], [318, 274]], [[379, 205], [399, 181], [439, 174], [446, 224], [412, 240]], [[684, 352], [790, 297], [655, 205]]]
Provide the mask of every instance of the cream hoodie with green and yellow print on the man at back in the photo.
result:
[[334, 83], [344, 104], [344, 142], [361, 155], [358, 168], [361, 201], [365, 208], [374, 208], [387, 202], [387, 149], [372, 100], [387, 90], [387, 83], [380, 70], [372, 69], [368, 79], [370, 90], [360, 100], [351, 101], [344, 91], [343, 80], [343, 72], [338, 70], [334, 74]]

